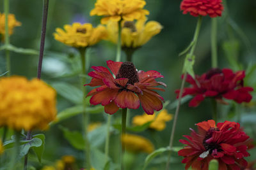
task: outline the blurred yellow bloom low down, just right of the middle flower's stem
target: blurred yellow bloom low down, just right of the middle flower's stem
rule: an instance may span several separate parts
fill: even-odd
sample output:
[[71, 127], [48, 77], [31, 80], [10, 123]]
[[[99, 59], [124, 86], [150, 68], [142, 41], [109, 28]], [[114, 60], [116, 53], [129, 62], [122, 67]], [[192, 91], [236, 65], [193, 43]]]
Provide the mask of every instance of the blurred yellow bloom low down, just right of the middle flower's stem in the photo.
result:
[[122, 143], [129, 152], [151, 153], [154, 151], [154, 145], [147, 138], [135, 134], [123, 135]]

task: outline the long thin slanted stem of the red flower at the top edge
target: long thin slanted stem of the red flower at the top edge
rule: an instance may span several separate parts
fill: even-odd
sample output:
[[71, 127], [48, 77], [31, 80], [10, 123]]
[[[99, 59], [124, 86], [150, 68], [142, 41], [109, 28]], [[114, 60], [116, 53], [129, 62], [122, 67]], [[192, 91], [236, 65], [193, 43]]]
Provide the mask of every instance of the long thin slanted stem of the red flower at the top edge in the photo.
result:
[[[200, 16], [198, 18], [198, 22], [196, 24], [195, 34], [194, 34], [194, 37], [193, 37], [193, 41], [195, 43], [193, 44], [193, 46], [191, 47], [190, 52], [189, 52], [189, 55], [191, 57], [193, 56], [193, 54], [195, 52], [195, 47], [196, 47], [196, 43], [197, 43], [197, 40], [198, 40], [198, 36], [199, 36], [201, 25], [202, 25], [202, 16]], [[170, 159], [171, 159], [171, 154], [172, 154], [173, 139], [174, 139], [177, 119], [178, 119], [178, 115], [179, 115], [181, 98], [182, 98], [182, 94], [183, 94], [183, 90], [184, 90], [184, 85], [185, 85], [185, 81], [186, 81], [187, 76], [188, 76], [188, 73], [185, 72], [183, 80], [182, 80], [182, 83], [181, 83], [181, 87], [180, 87], [180, 93], [179, 93], [179, 98], [178, 98], [178, 104], [177, 104], [177, 107], [176, 107], [176, 110], [175, 110], [175, 116], [174, 116], [174, 119], [173, 119], [172, 133], [171, 133], [171, 136], [170, 136], [170, 145], [169, 145], [171, 150], [169, 152], [168, 160], [166, 162], [166, 170], [169, 169], [169, 164], [170, 164]]]

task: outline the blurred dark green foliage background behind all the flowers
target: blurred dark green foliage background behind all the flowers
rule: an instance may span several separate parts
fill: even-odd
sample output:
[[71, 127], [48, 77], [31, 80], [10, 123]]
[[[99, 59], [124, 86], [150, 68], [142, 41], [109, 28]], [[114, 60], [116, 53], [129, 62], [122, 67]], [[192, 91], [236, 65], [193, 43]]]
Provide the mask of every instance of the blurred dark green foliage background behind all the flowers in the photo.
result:
[[[168, 85], [166, 92], [161, 92], [165, 101], [173, 103], [175, 101], [176, 89], [180, 87], [180, 76], [184, 61], [184, 56], [179, 57], [179, 53], [189, 45], [193, 38], [197, 18], [191, 15], [182, 15], [179, 10], [180, 1], [168, 0], [146, 0], [145, 8], [150, 11], [148, 20], [156, 20], [163, 25], [163, 30], [154, 36], [146, 45], [134, 53], [133, 61], [138, 69], [148, 71], [154, 69], [164, 75], [163, 82]], [[226, 0], [225, 0], [226, 1]], [[68, 89], [61, 89], [60, 84], [72, 85], [76, 89], [79, 86], [79, 76], [74, 73], [72, 63], [79, 62], [76, 50], [69, 48], [56, 41], [52, 33], [56, 27], [63, 27], [65, 24], [73, 22], [90, 22], [93, 25], [100, 23], [100, 17], [90, 17], [90, 10], [93, 9], [95, 0], [51, 0], [49, 4], [49, 18], [47, 23], [47, 35], [45, 43], [45, 58], [43, 64], [42, 79], [53, 87], [58, 93], [58, 111], [74, 106], [71, 97], [81, 97], [79, 91], [70, 92]], [[218, 65], [220, 68], [231, 67], [234, 70], [244, 69], [246, 74], [250, 73], [244, 81], [245, 85], [256, 89], [256, 1], [227, 1], [223, 17], [218, 18]], [[32, 48], [39, 50], [40, 32], [42, 20], [42, 1], [12, 0], [10, 1], [10, 13], [14, 13], [17, 20], [22, 22], [21, 27], [15, 29], [11, 37], [11, 43], [22, 48]], [[3, 12], [3, 4], [0, 4], [0, 11]], [[211, 68], [211, 18], [204, 17], [202, 29], [196, 46], [195, 73], [202, 74]], [[87, 56], [90, 62], [87, 63], [88, 71], [91, 66], [106, 66], [106, 60], [115, 60], [116, 46], [108, 41], [102, 41], [97, 46], [88, 49]], [[26, 76], [29, 79], [36, 76], [38, 55], [23, 55], [11, 53], [12, 74]], [[122, 53], [122, 60], [125, 60], [125, 53]], [[233, 62], [230, 62], [232, 60]], [[0, 51], [0, 73], [5, 72], [4, 52]], [[68, 75], [69, 74], [69, 75]], [[1, 88], [1, 87], [0, 87]], [[58, 89], [59, 88], [59, 89]], [[62, 92], [61, 92], [62, 90]], [[64, 91], [63, 91], [64, 90]], [[65, 91], [66, 90], [66, 91]], [[67, 94], [65, 96], [65, 93]], [[241, 125], [252, 138], [256, 137], [256, 110], [255, 92], [253, 101], [250, 104], [237, 104], [230, 102], [228, 106], [219, 106], [220, 121], [232, 120], [240, 121]], [[175, 108], [168, 104], [166, 109], [169, 113], [174, 113]], [[142, 114], [142, 110], [132, 111], [133, 115]], [[183, 134], [189, 134], [189, 128], [195, 129], [195, 124], [211, 119], [211, 101], [206, 99], [197, 108], [189, 108], [188, 102], [182, 104], [177, 131], [174, 139], [174, 146], [182, 146], [179, 139]], [[120, 114], [113, 116], [113, 122], [120, 120]], [[92, 122], [106, 122], [106, 113], [92, 114]], [[131, 120], [130, 120], [131, 122]], [[63, 120], [51, 125], [45, 132], [46, 145], [42, 164], [36, 163], [35, 157], [31, 156], [31, 164], [37, 169], [45, 164], [51, 164], [62, 155], [74, 155], [78, 164], [82, 165], [83, 152], [76, 150], [68, 143], [61, 131], [61, 127], [67, 127], [72, 131], [81, 131], [81, 115]], [[155, 148], [168, 146], [172, 120], [168, 122], [166, 129], [161, 132], [140, 132], [154, 143]], [[116, 130], [112, 129], [110, 154], [115, 160], [115, 140]], [[98, 134], [99, 135], [99, 134]], [[99, 145], [99, 150], [103, 150], [104, 143]], [[256, 151], [251, 150], [251, 157], [248, 160], [256, 159]], [[33, 155], [33, 154], [31, 154]], [[140, 153], [136, 155], [138, 159], [130, 159], [131, 169], [141, 169], [143, 161], [147, 155]], [[173, 153], [173, 168], [184, 169], [180, 163], [181, 157]], [[152, 161], [148, 169], [164, 169], [167, 154], [163, 153]], [[100, 157], [99, 157], [100, 159]], [[33, 163], [35, 161], [35, 163]], [[129, 163], [130, 164], [130, 163]]]

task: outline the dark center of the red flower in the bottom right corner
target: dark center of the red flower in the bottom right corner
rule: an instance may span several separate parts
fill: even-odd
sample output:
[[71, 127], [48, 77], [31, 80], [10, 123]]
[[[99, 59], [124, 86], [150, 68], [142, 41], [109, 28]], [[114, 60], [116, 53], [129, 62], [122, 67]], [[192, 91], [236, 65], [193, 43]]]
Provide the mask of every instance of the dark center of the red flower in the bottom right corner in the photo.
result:
[[214, 143], [214, 142], [207, 143], [207, 139], [212, 138], [212, 134], [215, 131], [220, 131], [220, 130], [217, 129], [217, 128], [214, 128], [214, 127], [211, 127], [209, 129], [209, 131], [205, 134], [203, 145], [204, 145], [205, 150], [207, 150], [207, 152], [209, 152], [210, 154], [213, 153], [214, 155], [217, 155], [218, 154], [217, 152], [221, 152], [222, 151], [221, 150], [221, 146], [218, 143]]

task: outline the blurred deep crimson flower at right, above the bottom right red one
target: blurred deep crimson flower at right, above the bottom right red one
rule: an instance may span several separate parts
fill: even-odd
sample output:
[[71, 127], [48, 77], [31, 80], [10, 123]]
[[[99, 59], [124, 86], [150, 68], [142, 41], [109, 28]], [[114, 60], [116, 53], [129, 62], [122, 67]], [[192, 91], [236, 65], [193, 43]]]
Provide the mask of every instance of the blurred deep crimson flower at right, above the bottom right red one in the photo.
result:
[[[182, 97], [195, 96], [189, 102], [189, 107], [198, 106], [201, 101], [204, 101], [205, 97], [214, 97], [221, 103], [225, 103], [222, 101], [222, 97], [234, 100], [237, 103], [249, 103], [252, 99], [249, 92], [253, 91], [253, 88], [243, 87], [244, 76], [244, 71], [233, 73], [231, 69], [211, 69], [202, 76], [196, 75], [196, 80], [188, 75], [186, 81], [191, 84], [191, 87], [184, 88]], [[179, 92], [180, 90], [175, 91], [177, 98]]]

